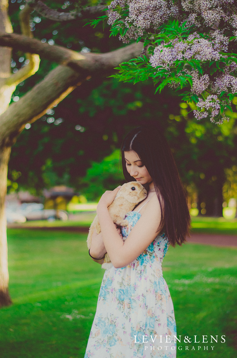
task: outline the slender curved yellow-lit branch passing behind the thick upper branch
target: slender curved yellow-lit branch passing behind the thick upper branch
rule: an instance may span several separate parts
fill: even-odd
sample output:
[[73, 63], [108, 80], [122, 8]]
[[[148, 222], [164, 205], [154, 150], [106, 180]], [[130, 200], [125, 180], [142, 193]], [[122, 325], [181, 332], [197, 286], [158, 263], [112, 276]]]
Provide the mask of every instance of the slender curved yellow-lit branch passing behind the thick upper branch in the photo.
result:
[[[29, 38], [33, 38], [33, 33], [30, 31], [29, 24], [31, 11], [32, 9], [30, 6], [26, 4], [24, 9], [19, 13], [21, 33]], [[26, 52], [25, 57], [29, 60], [29, 63], [26, 66], [20, 68], [18, 72], [13, 73], [11, 76], [6, 78], [6, 85], [16, 86], [38, 71], [40, 63], [39, 55]]]

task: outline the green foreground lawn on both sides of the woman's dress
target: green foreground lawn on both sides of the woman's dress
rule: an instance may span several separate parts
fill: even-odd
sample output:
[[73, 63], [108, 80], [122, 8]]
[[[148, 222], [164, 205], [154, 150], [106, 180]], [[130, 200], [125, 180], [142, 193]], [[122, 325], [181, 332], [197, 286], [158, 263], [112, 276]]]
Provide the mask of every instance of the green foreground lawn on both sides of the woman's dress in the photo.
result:
[[[104, 273], [88, 255], [86, 234], [8, 229], [8, 243], [14, 304], [0, 310], [0, 358], [83, 358]], [[237, 248], [170, 247], [163, 271], [177, 334], [208, 336], [205, 344], [178, 344], [177, 358], [236, 357]]]

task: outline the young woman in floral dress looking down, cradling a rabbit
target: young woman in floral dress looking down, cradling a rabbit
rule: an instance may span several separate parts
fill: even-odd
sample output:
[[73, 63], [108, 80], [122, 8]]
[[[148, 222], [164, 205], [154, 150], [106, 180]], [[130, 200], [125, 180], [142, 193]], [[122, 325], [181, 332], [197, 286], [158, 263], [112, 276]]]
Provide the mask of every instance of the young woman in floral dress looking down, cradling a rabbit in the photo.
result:
[[121, 232], [107, 210], [120, 187], [98, 203], [101, 234], [93, 234], [89, 253], [102, 264], [107, 252], [113, 267], [102, 280], [85, 358], [175, 358], [174, 308], [161, 263], [169, 245], [182, 245], [189, 232], [186, 194], [155, 126], [131, 130], [121, 156], [125, 179], [144, 185], [147, 197], [126, 214]]

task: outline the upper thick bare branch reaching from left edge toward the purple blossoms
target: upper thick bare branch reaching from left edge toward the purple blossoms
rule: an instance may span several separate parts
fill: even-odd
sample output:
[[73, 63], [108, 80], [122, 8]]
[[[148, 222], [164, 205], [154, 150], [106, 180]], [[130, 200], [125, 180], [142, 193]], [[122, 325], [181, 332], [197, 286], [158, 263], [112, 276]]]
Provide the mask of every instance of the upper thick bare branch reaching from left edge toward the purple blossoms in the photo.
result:
[[42, 58], [69, 66], [74, 71], [81, 72], [83, 70], [88, 73], [111, 70], [120, 63], [139, 56], [143, 48], [143, 44], [139, 42], [107, 53], [85, 53], [82, 55], [62, 46], [52, 46], [37, 39], [8, 33], [0, 33], [0, 45], [13, 47], [23, 52], [37, 53]]

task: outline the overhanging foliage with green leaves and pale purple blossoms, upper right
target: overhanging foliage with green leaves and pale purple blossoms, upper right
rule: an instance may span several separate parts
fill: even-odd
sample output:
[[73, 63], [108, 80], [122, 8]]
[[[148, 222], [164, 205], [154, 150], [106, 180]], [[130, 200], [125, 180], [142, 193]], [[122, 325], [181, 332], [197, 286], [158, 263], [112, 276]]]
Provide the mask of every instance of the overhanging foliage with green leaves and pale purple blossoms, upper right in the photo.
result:
[[236, 19], [232, 0], [112, 1], [111, 35], [142, 41], [148, 53], [122, 63], [114, 77], [133, 83], [150, 77], [156, 92], [170, 86], [182, 100], [194, 101], [198, 120], [222, 124], [237, 95]]

